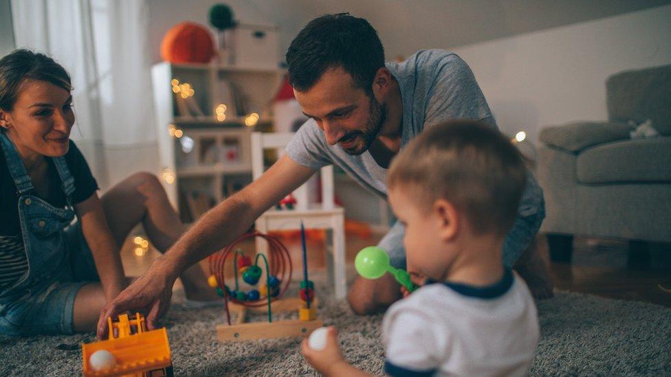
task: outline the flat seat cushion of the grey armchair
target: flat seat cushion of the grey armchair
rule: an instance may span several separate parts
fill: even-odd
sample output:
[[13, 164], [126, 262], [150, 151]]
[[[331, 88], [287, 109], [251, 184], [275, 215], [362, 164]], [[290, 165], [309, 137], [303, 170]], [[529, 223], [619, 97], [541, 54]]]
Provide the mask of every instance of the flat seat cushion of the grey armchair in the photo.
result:
[[671, 182], [671, 137], [589, 148], [577, 156], [576, 174], [589, 184]]

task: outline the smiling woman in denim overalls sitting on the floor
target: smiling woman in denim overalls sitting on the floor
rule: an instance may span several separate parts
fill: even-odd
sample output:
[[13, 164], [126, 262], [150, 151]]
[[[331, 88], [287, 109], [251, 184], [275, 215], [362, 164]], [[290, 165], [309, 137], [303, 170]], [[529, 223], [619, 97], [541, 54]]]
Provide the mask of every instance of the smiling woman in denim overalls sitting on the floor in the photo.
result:
[[[152, 174], [134, 174], [98, 198], [69, 140], [71, 91], [52, 58], [20, 49], [0, 59], [0, 334], [94, 330], [101, 308], [129, 282], [119, 251], [131, 229], [142, 222], [161, 252], [181, 233]], [[197, 265], [182, 282], [188, 299], [216, 297]]]

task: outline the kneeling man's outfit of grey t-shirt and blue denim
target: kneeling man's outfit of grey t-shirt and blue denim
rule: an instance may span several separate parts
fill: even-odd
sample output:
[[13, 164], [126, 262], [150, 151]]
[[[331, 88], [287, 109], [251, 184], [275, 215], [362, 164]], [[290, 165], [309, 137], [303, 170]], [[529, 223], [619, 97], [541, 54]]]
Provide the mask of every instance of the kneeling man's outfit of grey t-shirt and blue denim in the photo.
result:
[[[388, 62], [386, 67], [399, 84], [403, 102], [401, 148], [425, 127], [448, 120], [477, 119], [496, 127], [472, 71], [456, 54], [441, 49], [422, 50], [404, 62]], [[309, 119], [298, 129], [286, 151], [294, 161], [309, 168], [318, 169], [334, 163], [362, 186], [386, 198], [387, 170], [377, 165], [368, 151], [353, 156], [338, 144], [329, 146], [314, 119]], [[536, 214], [542, 206], [542, 191], [529, 174], [518, 216]], [[394, 225], [381, 242], [392, 260], [395, 255], [402, 257], [405, 254], [402, 234], [402, 227]]]

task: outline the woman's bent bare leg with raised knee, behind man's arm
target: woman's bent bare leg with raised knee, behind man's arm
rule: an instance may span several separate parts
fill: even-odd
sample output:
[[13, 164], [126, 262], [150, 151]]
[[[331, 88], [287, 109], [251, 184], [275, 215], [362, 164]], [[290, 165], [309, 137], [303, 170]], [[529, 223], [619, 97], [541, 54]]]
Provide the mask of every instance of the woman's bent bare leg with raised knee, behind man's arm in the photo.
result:
[[[153, 174], [133, 174], [112, 187], [100, 200], [109, 229], [119, 246], [140, 222], [151, 244], [161, 253], [168, 251], [181, 236], [181, 220]], [[199, 265], [191, 266], [180, 277], [188, 299], [210, 301], [219, 298], [208, 286], [207, 277]]]

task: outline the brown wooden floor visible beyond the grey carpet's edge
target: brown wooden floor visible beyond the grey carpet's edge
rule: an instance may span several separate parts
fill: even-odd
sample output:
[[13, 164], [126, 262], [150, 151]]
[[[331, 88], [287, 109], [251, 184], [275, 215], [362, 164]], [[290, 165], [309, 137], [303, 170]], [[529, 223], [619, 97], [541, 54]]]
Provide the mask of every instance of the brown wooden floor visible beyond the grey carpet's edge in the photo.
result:
[[[347, 234], [347, 261], [353, 262], [356, 253], [363, 247], [376, 244], [381, 235], [370, 236]], [[300, 271], [300, 239], [296, 236], [284, 238], [294, 264]], [[240, 245], [245, 253], [252, 254], [254, 244]], [[307, 242], [308, 265], [310, 269], [325, 266], [325, 244], [316, 238]], [[151, 264], [156, 251], [137, 256], [134, 245], [129, 240], [122, 249], [122, 260], [127, 275], [140, 275]], [[201, 262], [207, 271], [206, 262]], [[595, 240], [576, 238], [573, 262], [571, 264], [552, 263], [555, 288], [594, 295], [646, 301], [671, 308], [671, 244], [650, 244], [650, 266], [636, 269], [628, 266], [628, 243], [616, 240]], [[664, 289], [669, 290], [665, 292]]]

